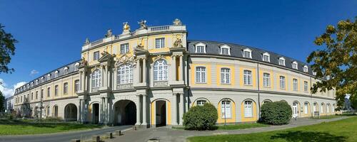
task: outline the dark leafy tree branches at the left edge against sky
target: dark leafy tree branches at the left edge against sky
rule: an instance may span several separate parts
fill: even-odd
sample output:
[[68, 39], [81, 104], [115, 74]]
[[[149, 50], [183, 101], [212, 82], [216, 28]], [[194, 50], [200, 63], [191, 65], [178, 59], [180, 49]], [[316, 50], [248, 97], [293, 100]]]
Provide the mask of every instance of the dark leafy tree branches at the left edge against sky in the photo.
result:
[[0, 73], [14, 72], [13, 68], [7, 66], [11, 61], [11, 55], [15, 54], [14, 43], [17, 43], [17, 40], [13, 38], [11, 33], [6, 33], [4, 26], [0, 23]]

